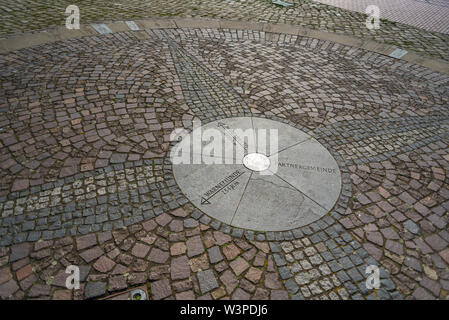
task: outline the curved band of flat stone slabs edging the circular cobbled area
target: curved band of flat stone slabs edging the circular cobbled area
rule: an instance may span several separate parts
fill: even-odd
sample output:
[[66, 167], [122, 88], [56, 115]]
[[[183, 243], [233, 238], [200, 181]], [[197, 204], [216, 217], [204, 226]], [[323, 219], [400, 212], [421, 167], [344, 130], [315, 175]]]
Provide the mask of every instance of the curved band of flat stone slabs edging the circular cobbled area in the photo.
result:
[[[68, 40], [98, 34], [133, 31], [142, 33], [147, 29], [176, 29], [176, 28], [216, 28], [216, 29], [242, 29], [306, 36], [310, 38], [331, 41], [342, 45], [364, 49], [392, 58], [417, 64], [433, 71], [449, 74], [449, 63], [440, 59], [424, 57], [416, 52], [409, 52], [400, 48], [378, 43], [372, 40], [312, 30], [288, 24], [270, 24], [259, 22], [244, 22], [234, 20], [205, 20], [205, 19], [144, 19], [136, 21], [114, 21], [100, 24], [81, 25], [79, 30], [69, 30], [59, 27], [37, 33], [27, 33], [17, 37], [0, 40], [0, 54], [20, 50], [41, 44]], [[142, 38], [147, 36], [142, 34]]]

